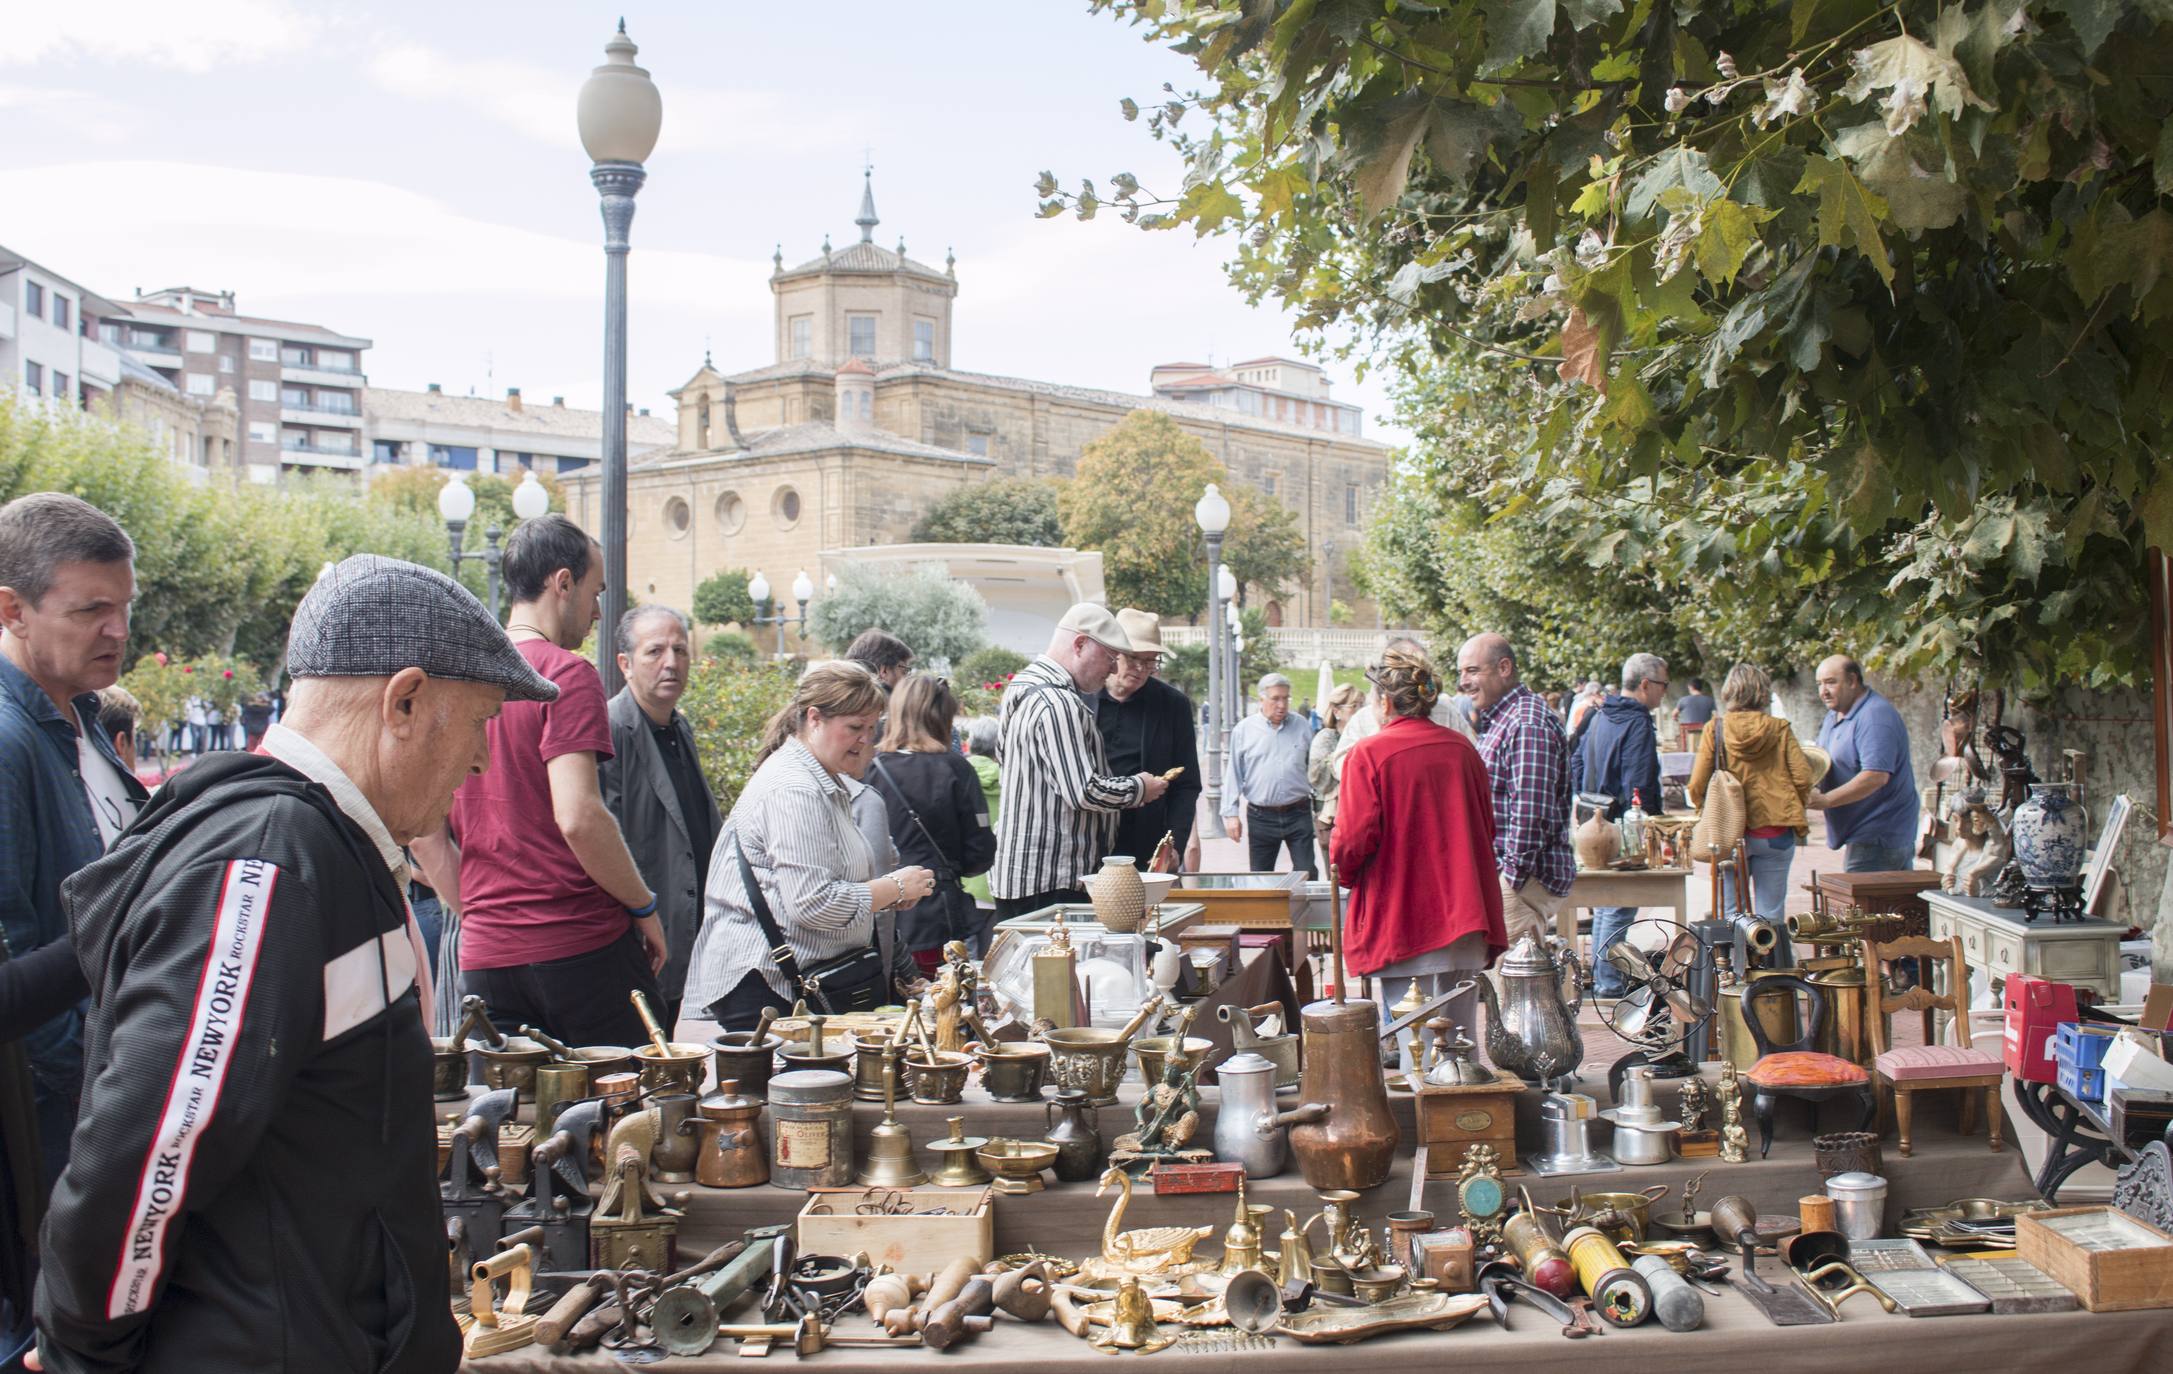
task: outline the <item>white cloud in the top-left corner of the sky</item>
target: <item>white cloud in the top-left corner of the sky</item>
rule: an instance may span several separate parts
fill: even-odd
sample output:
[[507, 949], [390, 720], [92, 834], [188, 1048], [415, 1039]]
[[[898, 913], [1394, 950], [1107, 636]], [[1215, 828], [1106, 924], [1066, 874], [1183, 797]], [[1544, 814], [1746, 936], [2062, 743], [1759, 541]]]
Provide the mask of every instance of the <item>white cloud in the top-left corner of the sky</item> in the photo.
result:
[[324, 22], [285, 0], [76, 0], [11, 4], [7, 63], [146, 63], [211, 72], [300, 52]]

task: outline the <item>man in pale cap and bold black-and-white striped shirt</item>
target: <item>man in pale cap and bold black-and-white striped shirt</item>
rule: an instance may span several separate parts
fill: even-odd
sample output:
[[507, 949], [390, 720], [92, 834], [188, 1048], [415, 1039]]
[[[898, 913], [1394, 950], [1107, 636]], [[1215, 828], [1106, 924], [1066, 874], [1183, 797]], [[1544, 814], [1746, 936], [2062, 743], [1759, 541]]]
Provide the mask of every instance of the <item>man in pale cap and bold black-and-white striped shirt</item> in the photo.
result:
[[1100, 867], [1117, 813], [1169, 791], [1156, 774], [1113, 774], [1089, 698], [1102, 691], [1132, 637], [1108, 607], [1065, 611], [1041, 654], [1010, 678], [997, 733], [1002, 809], [989, 896], [997, 920], [1056, 902], [1084, 902], [1080, 878]]

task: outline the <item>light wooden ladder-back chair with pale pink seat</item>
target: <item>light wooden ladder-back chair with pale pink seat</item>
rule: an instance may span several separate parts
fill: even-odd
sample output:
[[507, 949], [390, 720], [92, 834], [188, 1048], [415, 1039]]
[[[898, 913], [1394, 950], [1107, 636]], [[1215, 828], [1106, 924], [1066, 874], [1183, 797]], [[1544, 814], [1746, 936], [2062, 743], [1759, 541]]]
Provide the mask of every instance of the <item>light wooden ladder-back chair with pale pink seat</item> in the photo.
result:
[[[1871, 1011], [1871, 1078], [1877, 1083], [1880, 1107], [1893, 1111], [1895, 1126], [1901, 1131], [1901, 1154], [1908, 1157], [1910, 1152], [1910, 1098], [1940, 1087], [1962, 1091], [1962, 1135], [1975, 1133], [1977, 1089], [1984, 1091], [1984, 1122], [1993, 1139], [1993, 1150], [1999, 1150], [1999, 1083], [2006, 1076], [2006, 1065], [1999, 1061], [1999, 1054], [1977, 1050], [1969, 1044], [1969, 961], [1962, 957], [1962, 937], [1925, 939], [1921, 935], [1906, 935], [1886, 944], [1867, 939], [1862, 946], [1864, 970], [1869, 974], [1864, 991]], [[1917, 959], [1923, 976], [1917, 987], [1899, 998], [1888, 998], [1882, 991], [1882, 959]], [[1932, 991], [1938, 985], [1936, 965], [1945, 965], [1947, 970], [1947, 991], [1943, 994]], [[1891, 1020], [1897, 1011], [1923, 1013], [1921, 1046], [1891, 1048]], [[1956, 1044], [1951, 1046], [1938, 1044], [1936, 1020], [1940, 1011], [1954, 1013]]]

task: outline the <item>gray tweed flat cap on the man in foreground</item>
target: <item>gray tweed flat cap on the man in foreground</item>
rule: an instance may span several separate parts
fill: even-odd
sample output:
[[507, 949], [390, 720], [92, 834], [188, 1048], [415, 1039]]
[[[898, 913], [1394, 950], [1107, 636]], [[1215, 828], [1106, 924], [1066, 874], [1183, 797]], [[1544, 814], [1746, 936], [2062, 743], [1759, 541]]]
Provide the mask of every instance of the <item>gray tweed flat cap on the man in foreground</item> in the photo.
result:
[[293, 678], [432, 678], [489, 683], [508, 702], [554, 702], [558, 685], [528, 667], [482, 602], [443, 572], [354, 554], [317, 578], [287, 630]]

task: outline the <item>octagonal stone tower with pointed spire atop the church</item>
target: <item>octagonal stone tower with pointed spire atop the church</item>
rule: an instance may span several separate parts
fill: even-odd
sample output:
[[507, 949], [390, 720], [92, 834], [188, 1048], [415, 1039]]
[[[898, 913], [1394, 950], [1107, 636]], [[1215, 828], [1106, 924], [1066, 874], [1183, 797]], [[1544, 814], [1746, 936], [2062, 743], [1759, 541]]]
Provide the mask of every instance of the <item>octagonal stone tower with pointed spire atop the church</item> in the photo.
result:
[[839, 367], [861, 359], [874, 370], [893, 363], [950, 367], [952, 300], [958, 296], [954, 263], [930, 267], [876, 243], [876, 172], [861, 174], [861, 239], [784, 270], [774, 259], [769, 293], [776, 298], [778, 363]]

